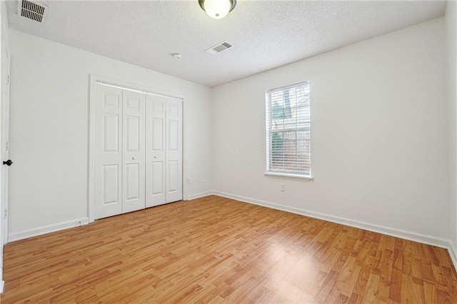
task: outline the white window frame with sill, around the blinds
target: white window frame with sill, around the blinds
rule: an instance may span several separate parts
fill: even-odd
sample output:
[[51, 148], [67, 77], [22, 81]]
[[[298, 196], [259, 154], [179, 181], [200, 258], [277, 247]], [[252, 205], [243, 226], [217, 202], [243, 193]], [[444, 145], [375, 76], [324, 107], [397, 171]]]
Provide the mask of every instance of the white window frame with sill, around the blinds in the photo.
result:
[[[272, 153], [273, 153], [273, 142], [271, 139], [271, 133], [273, 133], [273, 100], [271, 99], [271, 93], [276, 93], [278, 91], [286, 91], [290, 90], [291, 88], [305, 88], [308, 90], [308, 98], [306, 101], [306, 106], [309, 107], [309, 120], [305, 119], [303, 116], [302, 123], [309, 123], [308, 131], [309, 131], [309, 170], [308, 171], [281, 171], [281, 170], [274, 170], [271, 169], [271, 161], [272, 161]], [[276, 177], [276, 178], [291, 178], [297, 179], [300, 181], [311, 181], [313, 180], [312, 171], [311, 171], [311, 85], [310, 81], [302, 81], [299, 83], [293, 83], [287, 86], [281, 86], [278, 88], [272, 88], [265, 92], [265, 113], [266, 113], [266, 171], [264, 172], [265, 176], [268, 177]], [[295, 107], [297, 108], [297, 107]], [[289, 108], [289, 112], [292, 108]], [[283, 111], [287, 110], [283, 108]], [[290, 115], [290, 114], [289, 114]], [[306, 127], [283, 127], [281, 129], [275, 129], [274, 133], [278, 132], [298, 132], [298, 131], [306, 131]], [[296, 143], [295, 143], [296, 145]]]

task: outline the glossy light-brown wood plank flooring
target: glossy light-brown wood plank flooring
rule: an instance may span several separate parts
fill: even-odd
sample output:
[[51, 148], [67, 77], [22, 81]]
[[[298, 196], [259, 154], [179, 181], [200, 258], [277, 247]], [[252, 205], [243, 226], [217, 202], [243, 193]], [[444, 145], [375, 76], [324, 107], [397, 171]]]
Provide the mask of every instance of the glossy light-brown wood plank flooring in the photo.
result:
[[1, 303], [457, 303], [447, 250], [218, 196], [4, 248]]

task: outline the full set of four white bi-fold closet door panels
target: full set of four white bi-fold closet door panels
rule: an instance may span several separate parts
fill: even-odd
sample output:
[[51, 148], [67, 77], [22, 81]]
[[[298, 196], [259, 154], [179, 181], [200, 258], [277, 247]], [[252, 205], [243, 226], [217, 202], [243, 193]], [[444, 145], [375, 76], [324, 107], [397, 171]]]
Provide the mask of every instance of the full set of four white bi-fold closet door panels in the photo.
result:
[[94, 89], [94, 218], [181, 201], [182, 101]]

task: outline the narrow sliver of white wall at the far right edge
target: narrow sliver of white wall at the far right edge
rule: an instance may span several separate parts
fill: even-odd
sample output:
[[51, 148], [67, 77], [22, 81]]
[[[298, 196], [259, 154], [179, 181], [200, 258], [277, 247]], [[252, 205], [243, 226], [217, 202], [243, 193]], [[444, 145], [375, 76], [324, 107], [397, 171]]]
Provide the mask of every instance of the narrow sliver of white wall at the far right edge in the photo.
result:
[[451, 215], [451, 240], [453, 241], [453, 254], [454, 258], [457, 260], [457, 124], [456, 124], [456, 111], [457, 111], [457, 47], [456, 47], [456, 37], [457, 37], [457, 2], [448, 1], [446, 6], [446, 51], [448, 64], [448, 98], [449, 98], [449, 116], [450, 116], [450, 154], [451, 161], [451, 206], [450, 206], [450, 215]]

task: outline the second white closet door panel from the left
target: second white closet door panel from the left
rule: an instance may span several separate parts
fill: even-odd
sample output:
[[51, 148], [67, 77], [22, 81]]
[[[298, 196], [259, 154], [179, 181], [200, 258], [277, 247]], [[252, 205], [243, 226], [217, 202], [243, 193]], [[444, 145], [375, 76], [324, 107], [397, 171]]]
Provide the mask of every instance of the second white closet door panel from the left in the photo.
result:
[[123, 93], [123, 174], [122, 213], [146, 208], [145, 205], [145, 94]]

